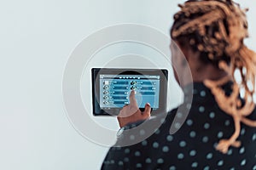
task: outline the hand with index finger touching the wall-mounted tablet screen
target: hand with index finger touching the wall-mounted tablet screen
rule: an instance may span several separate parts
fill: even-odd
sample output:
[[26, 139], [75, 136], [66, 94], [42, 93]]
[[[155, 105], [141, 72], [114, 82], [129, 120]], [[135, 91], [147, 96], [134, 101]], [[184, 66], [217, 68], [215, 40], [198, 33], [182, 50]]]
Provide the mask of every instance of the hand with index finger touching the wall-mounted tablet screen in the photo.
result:
[[119, 127], [125, 127], [125, 125], [131, 122], [148, 119], [148, 117], [150, 117], [150, 111], [151, 107], [149, 103], [145, 105], [145, 110], [143, 112], [139, 110], [137, 100], [135, 99], [135, 91], [132, 90], [130, 94], [130, 105], [125, 105], [117, 117]]

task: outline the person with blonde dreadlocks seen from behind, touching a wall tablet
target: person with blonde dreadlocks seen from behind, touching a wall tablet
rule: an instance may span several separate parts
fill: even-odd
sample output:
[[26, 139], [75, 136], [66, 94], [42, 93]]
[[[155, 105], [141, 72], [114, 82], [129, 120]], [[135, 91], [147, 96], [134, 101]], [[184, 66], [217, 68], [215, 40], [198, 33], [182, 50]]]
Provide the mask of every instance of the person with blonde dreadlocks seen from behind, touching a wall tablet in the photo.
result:
[[[187, 108], [189, 115], [170, 133], [183, 112], [174, 109], [150, 118], [150, 105], [140, 111], [131, 92], [130, 105], [119, 112], [119, 126], [148, 127], [132, 135], [124, 131], [102, 169], [256, 169], [256, 54], [243, 42], [248, 37], [246, 10], [232, 0], [189, 0], [179, 7], [171, 37], [187, 62], [172, 55], [172, 63], [178, 65], [174, 73], [185, 96], [179, 107]], [[171, 48], [174, 53], [174, 43]], [[193, 82], [183, 73], [188, 69]], [[193, 100], [188, 106], [189, 90]], [[161, 125], [152, 135], [125, 145], [155, 122]]]

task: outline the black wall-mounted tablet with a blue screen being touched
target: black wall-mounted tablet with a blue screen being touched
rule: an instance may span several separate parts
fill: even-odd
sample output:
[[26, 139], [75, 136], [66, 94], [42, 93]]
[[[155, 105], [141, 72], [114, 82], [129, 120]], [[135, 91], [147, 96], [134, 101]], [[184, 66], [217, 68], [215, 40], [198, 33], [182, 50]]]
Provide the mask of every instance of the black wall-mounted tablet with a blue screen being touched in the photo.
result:
[[92, 68], [94, 116], [117, 116], [134, 90], [138, 107], [149, 103], [151, 114], [166, 111], [168, 71], [164, 69]]

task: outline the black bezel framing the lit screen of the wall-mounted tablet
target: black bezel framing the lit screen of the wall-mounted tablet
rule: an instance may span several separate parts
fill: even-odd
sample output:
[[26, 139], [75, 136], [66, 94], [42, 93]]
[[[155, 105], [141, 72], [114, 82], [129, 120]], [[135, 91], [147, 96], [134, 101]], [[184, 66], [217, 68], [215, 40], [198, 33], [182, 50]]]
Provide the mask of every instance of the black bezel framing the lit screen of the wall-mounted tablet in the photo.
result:
[[[160, 96], [159, 108], [152, 111], [152, 115], [166, 112], [166, 99], [167, 99], [167, 82], [168, 71], [166, 69], [116, 69], [116, 68], [92, 68], [91, 69], [91, 84], [92, 84], [92, 111], [94, 116], [117, 116], [122, 108], [111, 108], [108, 112], [101, 109], [97, 99], [99, 99], [99, 77], [98, 73], [110, 75], [142, 75], [160, 76]], [[140, 108], [141, 109], [141, 108]], [[142, 108], [143, 109], [143, 108]], [[109, 114], [111, 113], [111, 114]]]

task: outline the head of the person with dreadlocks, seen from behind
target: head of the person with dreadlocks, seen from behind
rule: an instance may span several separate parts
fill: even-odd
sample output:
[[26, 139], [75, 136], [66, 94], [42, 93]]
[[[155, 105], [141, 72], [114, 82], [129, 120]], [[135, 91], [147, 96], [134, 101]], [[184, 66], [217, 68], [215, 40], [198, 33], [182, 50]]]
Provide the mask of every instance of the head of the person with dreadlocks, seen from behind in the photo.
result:
[[232, 74], [240, 71], [245, 87], [248, 77], [255, 82], [255, 55], [243, 43], [248, 37], [246, 10], [232, 0], [189, 0], [179, 7], [170, 33], [188, 60], [195, 82], [223, 77], [220, 61], [230, 65]]

